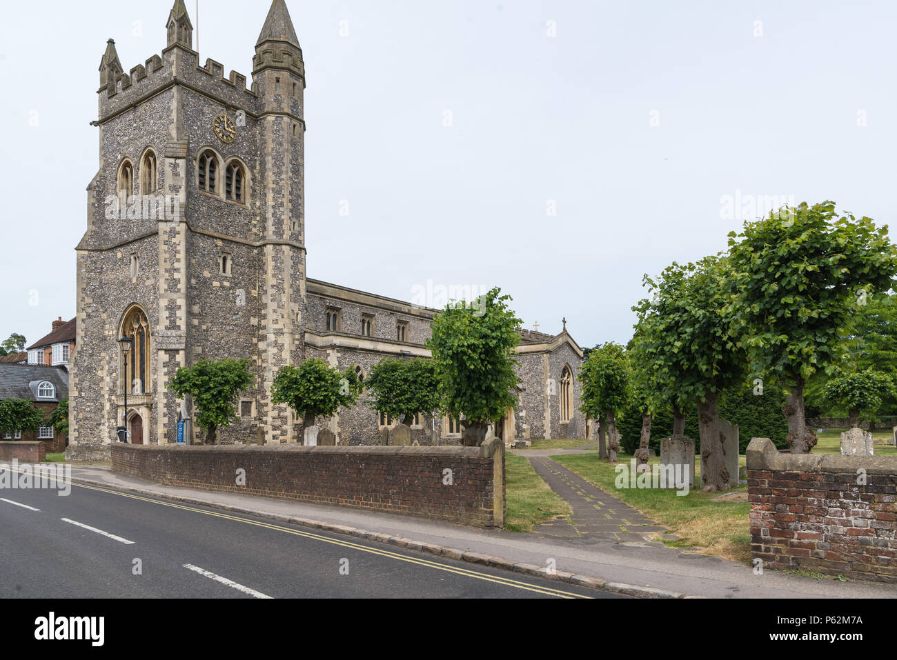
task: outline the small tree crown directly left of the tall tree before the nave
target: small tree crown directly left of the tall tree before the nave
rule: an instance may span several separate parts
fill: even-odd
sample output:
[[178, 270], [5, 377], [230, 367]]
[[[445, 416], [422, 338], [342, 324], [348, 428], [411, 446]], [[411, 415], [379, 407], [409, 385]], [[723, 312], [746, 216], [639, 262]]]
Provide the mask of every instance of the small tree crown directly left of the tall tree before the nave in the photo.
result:
[[418, 412], [440, 408], [439, 380], [432, 360], [381, 360], [370, 369], [364, 386], [373, 397], [374, 410], [405, 424], [411, 424]]

